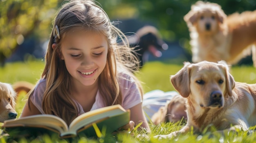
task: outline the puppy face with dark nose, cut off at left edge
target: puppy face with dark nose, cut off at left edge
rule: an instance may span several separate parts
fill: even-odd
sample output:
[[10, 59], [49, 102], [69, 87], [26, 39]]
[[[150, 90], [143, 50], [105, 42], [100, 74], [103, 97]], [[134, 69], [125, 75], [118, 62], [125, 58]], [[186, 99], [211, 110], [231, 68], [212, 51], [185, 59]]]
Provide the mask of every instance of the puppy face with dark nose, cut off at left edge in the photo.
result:
[[13, 90], [11, 84], [0, 82], [0, 122], [4, 120], [15, 119], [17, 113], [16, 106], [16, 92]]

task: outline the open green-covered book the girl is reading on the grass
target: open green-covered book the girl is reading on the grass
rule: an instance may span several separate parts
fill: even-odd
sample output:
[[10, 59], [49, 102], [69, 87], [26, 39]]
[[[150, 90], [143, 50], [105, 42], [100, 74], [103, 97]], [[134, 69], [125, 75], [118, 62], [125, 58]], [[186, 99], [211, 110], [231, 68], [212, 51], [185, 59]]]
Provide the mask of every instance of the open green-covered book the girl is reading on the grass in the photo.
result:
[[38, 114], [19, 119], [4, 121], [2, 128], [13, 137], [24, 137], [42, 133], [56, 132], [61, 138], [79, 136], [96, 136], [93, 123], [106, 133], [112, 133], [130, 121], [130, 112], [120, 105], [107, 106], [92, 110], [76, 117], [68, 126], [63, 119], [50, 115]]

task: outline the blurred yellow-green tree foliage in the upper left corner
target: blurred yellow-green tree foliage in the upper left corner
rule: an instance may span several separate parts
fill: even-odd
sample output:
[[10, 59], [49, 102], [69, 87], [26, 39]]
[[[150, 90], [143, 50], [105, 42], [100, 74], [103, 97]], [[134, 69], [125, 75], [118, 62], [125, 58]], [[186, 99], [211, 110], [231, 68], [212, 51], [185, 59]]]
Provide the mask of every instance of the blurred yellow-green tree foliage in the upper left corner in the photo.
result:
[[38, 38], [49, 33], [57, 0], [5, 0], [0, 2], [0, 64], [35, 31]]

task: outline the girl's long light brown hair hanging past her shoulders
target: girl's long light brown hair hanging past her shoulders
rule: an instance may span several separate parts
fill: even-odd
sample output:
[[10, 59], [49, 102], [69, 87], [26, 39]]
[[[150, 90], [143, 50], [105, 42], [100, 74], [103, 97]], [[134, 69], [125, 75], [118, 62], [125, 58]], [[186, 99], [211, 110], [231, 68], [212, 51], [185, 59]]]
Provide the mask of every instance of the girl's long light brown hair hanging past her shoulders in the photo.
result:
[[[106, 106], [121, 104], [122, 93], [119, 90], [119, 73], [130, 75], [142, 95], [140, 82], [132, 74], [137, 70], [134, 67], [137, 65], [138, 59], [132, 54], [124, 33], [110, 22], [105, 11], [94, 1], [71, 0], [63, 4], [54, 19], [53, 30], [45, 55], [46, 65], [41, 76], [41, 78], [46, 79], [42, 103], [43, 111], [45, 114], [61, 117], [68, 124], [78, 116], [79, 109], [70, 97], [71, 75], [65, 67], [64, 60], [60, 59], [60, 54], [61, 42], [65, 33], [76, 28], [103, 33], [108, 41], [106, 66], [99, 76], [99, 92], [105, 99]], [[117, 38], [121, 39], [124, 44], [118, 45]], [[56, 47], [52, 48], [54, 43], [56, 43]], [[30, 95], [33, 92], [34, 90]]]

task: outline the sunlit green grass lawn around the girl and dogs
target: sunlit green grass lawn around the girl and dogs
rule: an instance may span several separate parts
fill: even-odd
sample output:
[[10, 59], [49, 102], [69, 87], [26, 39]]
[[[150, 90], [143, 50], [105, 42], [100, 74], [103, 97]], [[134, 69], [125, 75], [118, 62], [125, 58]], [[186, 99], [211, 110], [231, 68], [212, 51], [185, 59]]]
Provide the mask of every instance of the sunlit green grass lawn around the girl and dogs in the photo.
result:
[[[6, 66], [0, 68], [0, 81], [13, 84], [16, 81], [29, 81], [33, 84], [38, 81], [40, 74], [44, 68], [42, 61], [29, 61], [7, 63]], [[170, 83], [170, 75], [174, 75], [182, 68], [182, 64], [168, 64], [162, 62], [148, 62], [141, 69], [136, 76], [144, 83], [144, 92], [159, 89], [163, 91], [174, 90]], [[231, 74], [236, 81], [246, 83], [256, 83], [256, 68], [252, 66], [233, 66]], [[16, 110], [18, 117], [26, 102], [26, 95], [23, 93], [19, 95]], [[203, 132], [202, 134], [193, 134], [193, 130], [187, 134], [177, 136], [173, 139], [154, 139], [153, 136], [157, 134], [168, 134], [170, 132], [179, 130], [184, 124], [180, 123], [161, 123], [153, 125], [149, 123], [151, 133], [148, 138], [144, 137], [144, 131], [135, 130], [132, 134], [120, 133], [117, 136], [102, 136], [98, 139], [81, 138], [73, 141], [73, 143], [256, 143], [256, 133], [247, 134], [247, 132], [238, 131], [237, 134], [226, 133], [225, 135], [211, 134], [210, 132]], [[254, 127], [252, 127], [254, 129]], [[214, 129], [213, 129], [214, 130]], [[139, 136], [141, 135], [141, 136]], [[210, 137], [211, 136], [211, 137]], [[7, 137], [0, 138], [1, 143], [12, 142]], [[36, 139], [20, 139], [19, 143], [67, 143], [66, 140], [58, 139], [56, 136], [39, 136]]]

